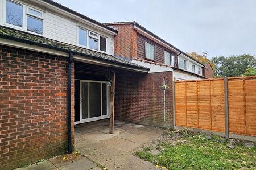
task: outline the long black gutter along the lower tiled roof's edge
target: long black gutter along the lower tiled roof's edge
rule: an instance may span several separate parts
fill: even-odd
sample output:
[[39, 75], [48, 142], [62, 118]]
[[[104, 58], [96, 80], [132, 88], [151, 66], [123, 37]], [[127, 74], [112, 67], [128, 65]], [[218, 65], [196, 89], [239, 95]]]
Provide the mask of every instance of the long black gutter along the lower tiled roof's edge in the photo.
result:
[[43, 44], [43, 43], [38, 43], [38, 42], [34, 42], [34, 41], [32, 41], [32, 40], [25, 40], [25, 39], [22, 39], [22, 38], [17, 38], [17, 37], [15, 37], [15, 36], [0, 34], [0, 38], [5, 38], [5, 39], [9, 39], [9, 40], [14, 40], [14, 41], [16, 41], [16, 42], [26, 43], [26, 44], [30, 44], [30, 45], [38, 45], [38, 46], [44, 47], [44, 48], [49, 48], [49, 49], [54, 49], [54, 50], [57, 50], [57, 51], [72, 53], [73, 55], [80, 55], [80, 56], [90, 57], [90, 58], [92, 58], [92, 59], [108, 61], [109, 63], [115, 63], [115, 64], [120, 64], [120, 65], [126, 65], [126, 66], [131, 67], [131, 68], [145, 69], [146, 71], [149, 71], [149, 70], [150, 70], [150, 68], [142, 68], [142, 67], [139, 67], [139, 66], [137, 66], [137, 65], [130, 65], [130, 64], [121, 63], [121, 62], [118, 62], [118, 61], [113, 61], [113, 60], [109, 60], [109, 59], [104, 59], [104, 58], [101, 58], [101, 57], [96, 57], [96, 56], [89, 55], [89, 54], [85, 54], [85, 53], [75, 52], [75, 51], [72, 51], [72, 50], [70, 50], [70, 49], [64, 49], [64, 48], [54, 47], [54, 46], [52, 46], [52, 45], [47, 45], [47, 44]]

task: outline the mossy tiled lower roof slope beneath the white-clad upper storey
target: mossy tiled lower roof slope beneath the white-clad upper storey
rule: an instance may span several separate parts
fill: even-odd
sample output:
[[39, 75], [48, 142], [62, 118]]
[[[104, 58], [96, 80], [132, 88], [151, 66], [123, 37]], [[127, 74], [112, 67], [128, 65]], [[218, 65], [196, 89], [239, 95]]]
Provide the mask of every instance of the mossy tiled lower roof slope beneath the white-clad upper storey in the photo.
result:
[[15, 40], [18, 42], [28, 43], [31, 45], [34, 44], [34, 45], [43, 46], [46, 48], [65, 51], [65, 52], [72, 52], [77, 55], [86, 55], [88, 57], [94, 57], [97, 59], [108, 60], [108, 61], [122, 64], [122, 65], [129, 65], [130, 67], [137, 67], [137, 68], [149, 70], [149, 68], [145, 68], [145, 67], [142, 67], [141, 65], [131, 63], [131, 61], [124, 60], [121, 57], [107, 55], [105, 53], [92, 51], [89, 49], [77, 47], [75, 45], [58, 42], [56, 40], [52, 40], [52, 39], [48, 39], [48, 38], [43, 38], [42, 36], [36, 36], [36, 35], [28, 34], [26, 32], [16, 31], [11, 28], [0, 27], [0, 38]]

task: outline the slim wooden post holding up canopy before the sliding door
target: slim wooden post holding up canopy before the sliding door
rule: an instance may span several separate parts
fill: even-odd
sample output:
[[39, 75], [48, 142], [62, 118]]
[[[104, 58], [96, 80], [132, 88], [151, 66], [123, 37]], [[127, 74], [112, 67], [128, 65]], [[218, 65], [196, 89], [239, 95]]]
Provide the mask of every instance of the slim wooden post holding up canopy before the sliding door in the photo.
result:
[[110, 120], [109, 133], [114, 132], [114, 107], [115, 107], [115, 72], [110, 72], [110, 81], [112, 82], [110, 88]]

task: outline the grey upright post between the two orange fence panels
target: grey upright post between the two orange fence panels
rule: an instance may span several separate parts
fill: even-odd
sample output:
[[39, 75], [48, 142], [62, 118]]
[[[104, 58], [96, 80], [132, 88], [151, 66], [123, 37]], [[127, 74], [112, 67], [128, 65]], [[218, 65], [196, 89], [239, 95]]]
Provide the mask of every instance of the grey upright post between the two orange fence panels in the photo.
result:
[[224, 98], [225, 98], [225, 134], [229, 139], [229, 103], [228, 103], [228, 78], [224, 77]]

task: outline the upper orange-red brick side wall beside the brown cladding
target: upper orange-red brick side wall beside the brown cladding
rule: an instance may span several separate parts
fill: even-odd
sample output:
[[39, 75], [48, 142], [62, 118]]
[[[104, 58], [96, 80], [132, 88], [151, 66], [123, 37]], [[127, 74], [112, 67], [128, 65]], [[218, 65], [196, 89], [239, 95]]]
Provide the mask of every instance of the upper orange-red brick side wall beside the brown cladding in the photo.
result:
[[118, 34], [114, 36], [114, 53], [119, 56], [137, 56], [137, 33], [133, 29], [133, 24], [115, 24]]

